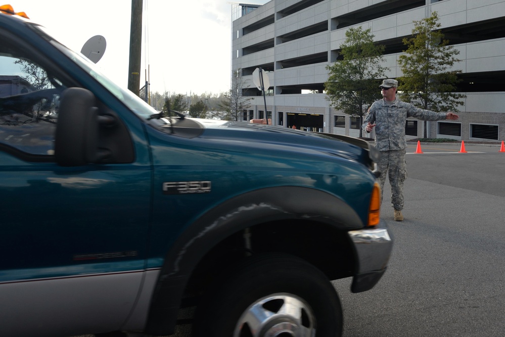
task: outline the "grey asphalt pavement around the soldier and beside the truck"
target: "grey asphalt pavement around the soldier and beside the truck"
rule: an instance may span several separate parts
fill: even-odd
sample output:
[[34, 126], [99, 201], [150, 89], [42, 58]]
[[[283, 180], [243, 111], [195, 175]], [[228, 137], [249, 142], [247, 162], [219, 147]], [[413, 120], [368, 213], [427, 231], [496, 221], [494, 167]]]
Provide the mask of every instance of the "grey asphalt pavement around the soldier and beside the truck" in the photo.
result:
[[344, 336], [505, 336], [505, 153], [464, 146], [409, 145], [404, 221], [384, 188], [388, 270], [369, 292], [334, 282]]

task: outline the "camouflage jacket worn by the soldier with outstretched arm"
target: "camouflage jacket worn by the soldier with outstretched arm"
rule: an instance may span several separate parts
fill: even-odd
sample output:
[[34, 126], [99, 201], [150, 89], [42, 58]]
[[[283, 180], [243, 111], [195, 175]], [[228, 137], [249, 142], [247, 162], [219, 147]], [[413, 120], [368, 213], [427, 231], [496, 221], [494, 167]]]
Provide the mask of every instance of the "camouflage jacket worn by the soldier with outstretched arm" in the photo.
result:
[[366, 132], [368, 122], [375, 126], [376, 147], [380, 151], [403, 150], [407, 147], [405, 140], [405, 121], [407, 117], [420, 120], [438, 121], [445, 119], [445, 113], [416, 108], [400, 101], [398, 98], [391, 106], [384, 103], [384, 99], [374, 102], [365, 115], [363, 130]]

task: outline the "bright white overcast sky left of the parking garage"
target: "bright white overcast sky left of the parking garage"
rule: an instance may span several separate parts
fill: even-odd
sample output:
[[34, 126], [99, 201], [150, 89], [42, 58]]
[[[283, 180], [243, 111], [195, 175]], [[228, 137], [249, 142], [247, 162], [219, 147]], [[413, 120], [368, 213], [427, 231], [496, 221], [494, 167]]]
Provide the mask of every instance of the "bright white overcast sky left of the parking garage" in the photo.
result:
[[[130, 0], [7, 0], [3, 4], [25, 12], [77, 52], [90, 37], [104, 36], [107, 48], [97, 65], [113, 81], [127, 86]], [[218, 94], [229, 89], [231, 2], [144, 0], [143, 12], [141, 86], [147, 71], [153, 92]]]

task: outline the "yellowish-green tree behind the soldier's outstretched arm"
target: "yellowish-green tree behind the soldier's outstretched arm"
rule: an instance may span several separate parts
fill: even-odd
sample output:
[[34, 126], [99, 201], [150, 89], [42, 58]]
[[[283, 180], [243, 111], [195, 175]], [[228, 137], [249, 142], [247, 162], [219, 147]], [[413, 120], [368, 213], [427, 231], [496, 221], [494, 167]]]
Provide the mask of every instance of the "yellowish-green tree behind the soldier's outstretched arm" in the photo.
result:
[[[457, 74], [462, 70], [451, 69], [460, 51], [448, 45], [444, 34], [438, 30], [438, 14], [414, 21], [412, 37], [404, 38], [407, 46], [404, 54], [398, 58], [398, 65], [403, 76], [398, 77], [401, 100], [416, 107], [435, 112], [457, 111], [464, 104], [460, 99], [466, 95], [453, 92], [460, 81]], [[427, 138], [425, 121], [424, 137]]]

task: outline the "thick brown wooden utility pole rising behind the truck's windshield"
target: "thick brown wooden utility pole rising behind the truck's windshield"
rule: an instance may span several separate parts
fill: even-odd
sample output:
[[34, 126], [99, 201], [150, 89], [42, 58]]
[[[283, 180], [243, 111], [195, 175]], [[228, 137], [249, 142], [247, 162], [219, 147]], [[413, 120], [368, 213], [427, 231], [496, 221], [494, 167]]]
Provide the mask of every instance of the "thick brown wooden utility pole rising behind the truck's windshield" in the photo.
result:
[[142, 53], [142, 3], [131, 0], [130, 58], [128, 65], [128, 90], [139, 95]]

